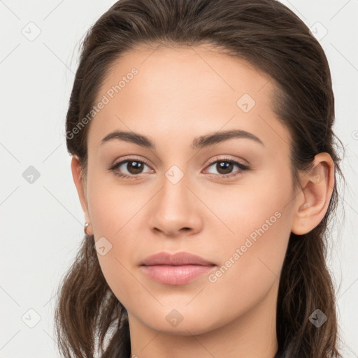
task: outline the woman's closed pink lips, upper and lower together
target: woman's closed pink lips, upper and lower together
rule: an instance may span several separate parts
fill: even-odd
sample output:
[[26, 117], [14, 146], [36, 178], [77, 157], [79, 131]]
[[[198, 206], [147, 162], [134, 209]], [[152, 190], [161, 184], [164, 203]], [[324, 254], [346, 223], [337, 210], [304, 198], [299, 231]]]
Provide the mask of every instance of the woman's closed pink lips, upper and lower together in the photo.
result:
[[213, 262], [188, 252], [174, 255], [159, 252], [141, 262], [142, 272], [164, 285], [184, 285], [212, 271], [215, 266]]

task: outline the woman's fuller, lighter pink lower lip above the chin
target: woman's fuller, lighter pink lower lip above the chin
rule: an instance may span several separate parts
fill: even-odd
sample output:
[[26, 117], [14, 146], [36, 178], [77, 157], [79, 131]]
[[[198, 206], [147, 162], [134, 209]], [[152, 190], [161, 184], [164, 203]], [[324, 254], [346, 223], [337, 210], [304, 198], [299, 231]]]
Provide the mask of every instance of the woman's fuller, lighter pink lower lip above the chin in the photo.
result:
[[210, 271], [214, 266], [202, 265], [152, 265], [141, 266], [143, 271], [153, 280], [166, 285], [184, 285], [187, 282]]

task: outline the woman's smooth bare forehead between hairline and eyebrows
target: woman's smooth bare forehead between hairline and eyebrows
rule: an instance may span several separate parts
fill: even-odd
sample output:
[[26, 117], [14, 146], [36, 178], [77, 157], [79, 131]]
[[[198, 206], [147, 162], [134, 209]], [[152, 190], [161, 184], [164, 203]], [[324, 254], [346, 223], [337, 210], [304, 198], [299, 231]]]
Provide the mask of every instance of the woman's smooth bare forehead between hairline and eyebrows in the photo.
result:
[[288, 143], [271, 108], [274, 90], [265, 73], [208, 45], [136, 48], [104, 78], [95, 103], [106, 97], [106, 104], [90, 124], [87, 144], [98, 146], [115, 129], [154, 141], [187, 138], [187, 145], [208, 131], [243, 129], [264, 137], [271, 131], [276, 142]]

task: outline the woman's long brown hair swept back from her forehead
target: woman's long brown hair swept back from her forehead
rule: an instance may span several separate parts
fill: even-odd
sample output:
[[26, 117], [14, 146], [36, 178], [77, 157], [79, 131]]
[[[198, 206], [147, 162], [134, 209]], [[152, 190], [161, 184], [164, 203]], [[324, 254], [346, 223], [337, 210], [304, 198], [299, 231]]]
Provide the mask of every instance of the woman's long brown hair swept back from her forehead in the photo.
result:
[[[66, 117], [67, 148], [79, 157], [84, 173], [90, 124], [74, 129], [90, 113], [111, 66], [139, 45], [155, 49], [201, 43], [246, 60], [274, 81], [273, 110], [292, 136], [295, 187], [299, 171], [309, 171], [320, 152], [331, 155], [335, 176], [342, 175], [324, 50], [306, 24], [275, 0], [120, 0], [111, 6], [85, 36]], [[334, 285], [325, 261], [327, 225], [337, 203], [335, 180], [320, 224], [289, 238], [277, 302], [282, 358], [341, 357]], [[93, 236], [85, 236], [61, 283], [55, 324], [62, 355], [89, 358], [101, 351], [102, 358], [129, 357], [127, 310], [103, 277]], [[309, 320], [317, 308], [328, 317], [319, 328]]]

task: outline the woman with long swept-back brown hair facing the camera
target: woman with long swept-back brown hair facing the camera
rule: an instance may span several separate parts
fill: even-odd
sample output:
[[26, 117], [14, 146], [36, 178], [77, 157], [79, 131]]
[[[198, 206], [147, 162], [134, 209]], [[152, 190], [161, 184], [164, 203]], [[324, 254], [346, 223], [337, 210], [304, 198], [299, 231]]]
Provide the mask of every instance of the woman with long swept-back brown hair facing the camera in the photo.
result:
[[120, 0], [66, 117], [85, 238], [64, 357], [341, 357], [324, 234], [334, 94], [275, 0]]

